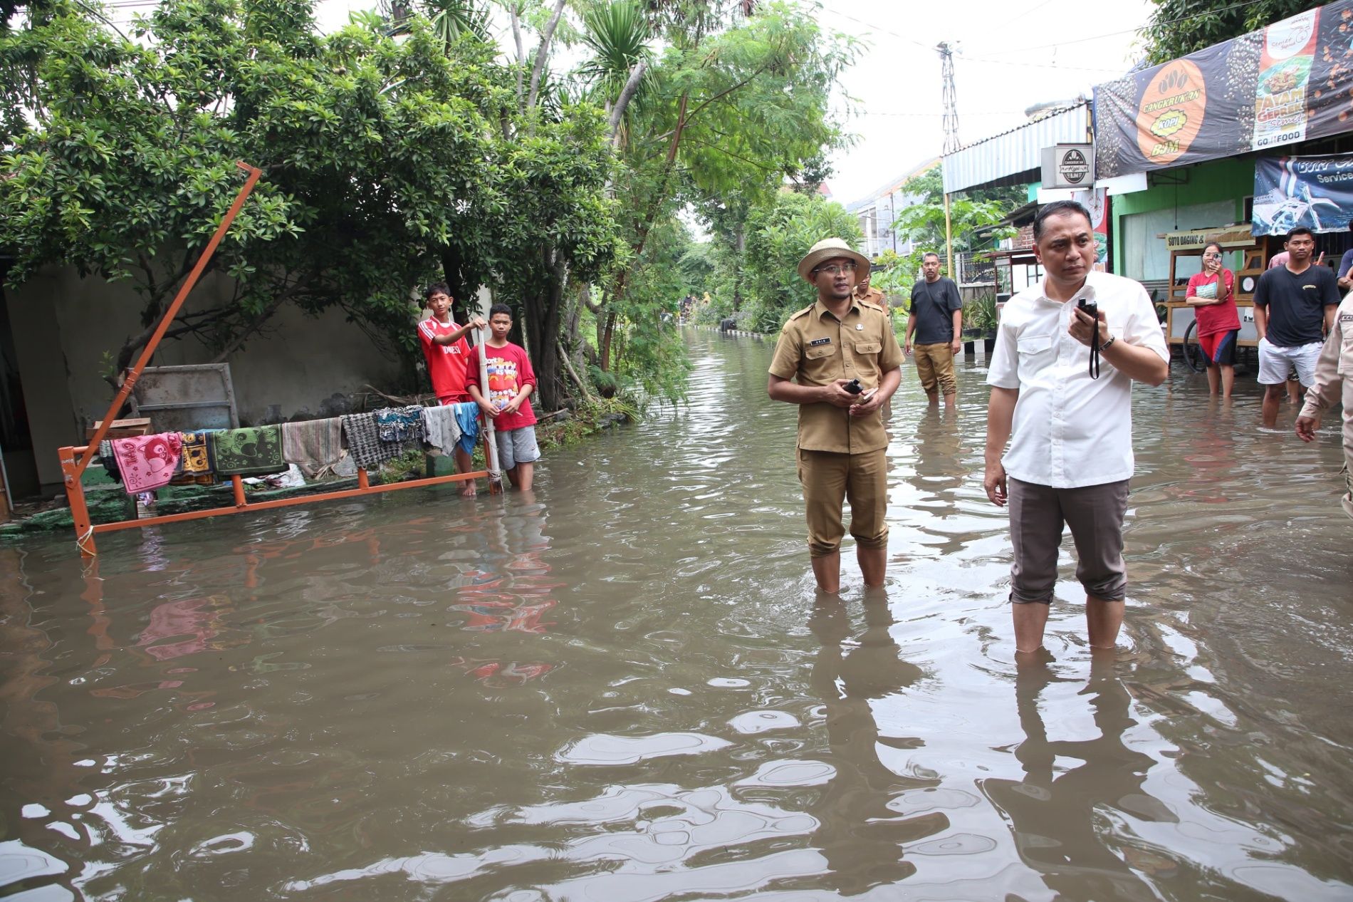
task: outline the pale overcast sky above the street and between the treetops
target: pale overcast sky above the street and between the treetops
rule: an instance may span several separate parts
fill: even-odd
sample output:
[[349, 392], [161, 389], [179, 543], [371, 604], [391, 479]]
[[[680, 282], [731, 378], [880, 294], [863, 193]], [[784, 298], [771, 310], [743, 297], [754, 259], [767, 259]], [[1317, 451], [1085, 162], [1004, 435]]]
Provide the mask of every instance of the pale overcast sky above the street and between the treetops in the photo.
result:
[[[375, 5], [321, 0], [321, 28]], [[958, 135], [971, 144], [1026, 122], [1035, 103], [1089, 96], [1131, 68], [1151, 3], [823, 0], [816, 9], [824, 27], [865, 42], [843, 77], [852, 100], [839, 102], [855, 144], [835, 154], [828, 181], [833, 199], [850, 203], [943, 149], [940, 41], [958, 47]]]

